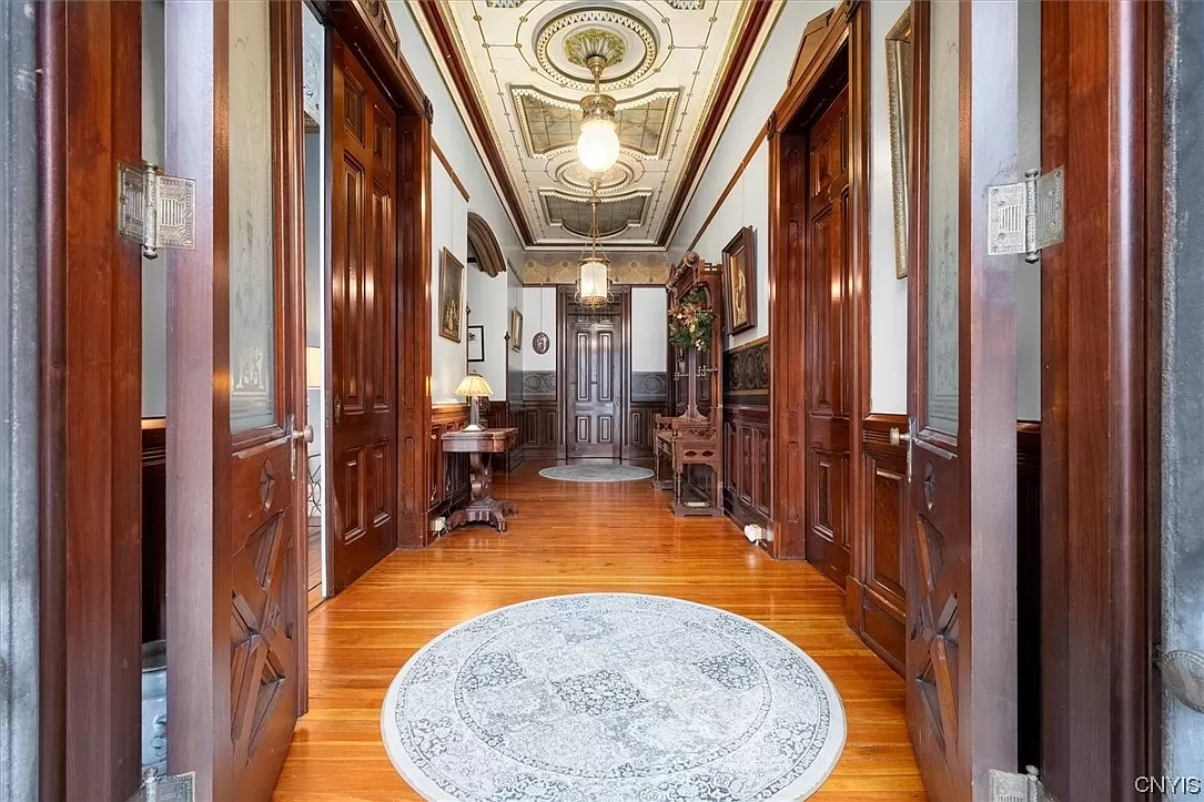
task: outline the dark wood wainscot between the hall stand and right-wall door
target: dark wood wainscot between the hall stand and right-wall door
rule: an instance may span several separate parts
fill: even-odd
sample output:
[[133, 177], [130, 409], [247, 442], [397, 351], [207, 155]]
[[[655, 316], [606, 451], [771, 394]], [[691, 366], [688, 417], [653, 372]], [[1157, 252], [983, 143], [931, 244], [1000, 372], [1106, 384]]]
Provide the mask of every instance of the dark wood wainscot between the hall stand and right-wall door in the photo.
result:
[[740, 529], [769, 526], [769, 407], [724, 406], [724, 512]]

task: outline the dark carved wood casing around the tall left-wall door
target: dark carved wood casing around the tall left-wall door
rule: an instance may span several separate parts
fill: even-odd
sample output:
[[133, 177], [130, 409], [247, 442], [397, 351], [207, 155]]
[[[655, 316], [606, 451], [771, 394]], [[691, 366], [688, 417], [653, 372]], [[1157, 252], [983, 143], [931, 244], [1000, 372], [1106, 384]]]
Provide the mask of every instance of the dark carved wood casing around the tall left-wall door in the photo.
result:
[[[396, 216], [397, 270], [397, 539], [396, 548], [431, 542], [426, 512], [432, 443], [431, 388], [431, 123], [435, 110], [401, 53], [384, 2], [309, 0], [323, 24], [361, 60], [397, 114]], [[327, 77], [329, 83], [329, 67]], [[327, 187], [330, 185], [327, 159]], [[327, 193], [329, 197], [329, 193]], [[327, 214], [329, 214], [327, 202]], [[327, 226], [332, 223], [327, 218]], [[329, 238], [327, 238], [329, 243]], [[327, 244], [327, 265], [329, 244]], [[325, 270], [330, 279], [329, 269]], [[329, 294], [327, 294], [329, 297]], [[327, 326], [326, 331], [330, 331]], [[329, 342], [326, 343], [329, 347]], [[326, 431], [327, 441], [330, 429]], [[327, 527], [327, 538], [332, 527]], [[327, 542], [327, 548], [330, 543]]]

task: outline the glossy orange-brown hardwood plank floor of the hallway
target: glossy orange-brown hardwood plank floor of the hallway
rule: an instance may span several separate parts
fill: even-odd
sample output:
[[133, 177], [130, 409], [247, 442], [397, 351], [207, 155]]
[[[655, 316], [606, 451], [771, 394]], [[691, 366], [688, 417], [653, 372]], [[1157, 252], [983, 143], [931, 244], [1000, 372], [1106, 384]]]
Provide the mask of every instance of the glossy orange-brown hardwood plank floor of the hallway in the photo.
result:
[[[925, 800], [903, 680], [844, 624], [844, 595], [805, 562], [778, 562], [724, 519], [677, 519], [647, 482], [573, 484], [524, 465], [496, 476], [518, 505], [506, 533], [459, 530], [396, 552], [309, 617], [309, 713], [273, 800], [419, 800], [380, 743], [380, 704], [439, 632], [514, 602], [585, 591], [677, 596], [760, 621], [797, 643], [844, 701], [848, 741], [813, 800]], [[616, 801], [618, 802], [618, 801]]]

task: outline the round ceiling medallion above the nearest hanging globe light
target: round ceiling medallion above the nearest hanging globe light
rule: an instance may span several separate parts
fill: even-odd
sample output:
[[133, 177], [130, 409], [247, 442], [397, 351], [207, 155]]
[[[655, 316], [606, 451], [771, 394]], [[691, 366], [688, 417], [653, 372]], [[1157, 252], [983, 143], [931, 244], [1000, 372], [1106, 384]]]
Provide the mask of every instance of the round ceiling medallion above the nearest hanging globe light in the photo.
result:
[[631, 87], [647, 76], [660, 52], [653, 25], [633, 11], [586, 6], [556, 14], [536, 29], [535, 58], [556, 83], [585, 92], [598, 89], [591, 57], [606, 59], [602, 90]]

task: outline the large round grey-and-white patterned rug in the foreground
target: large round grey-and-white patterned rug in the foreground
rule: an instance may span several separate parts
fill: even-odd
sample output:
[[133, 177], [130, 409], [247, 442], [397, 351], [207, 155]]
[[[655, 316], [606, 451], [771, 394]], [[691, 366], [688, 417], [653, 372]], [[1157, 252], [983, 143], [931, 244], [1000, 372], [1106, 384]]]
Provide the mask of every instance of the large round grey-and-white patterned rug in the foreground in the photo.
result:
[[448, 630], [394, 679], [385, 749], [427, 800], [798, 800], [844, 748], [798, 647], [663, 596], [580, 594]]

